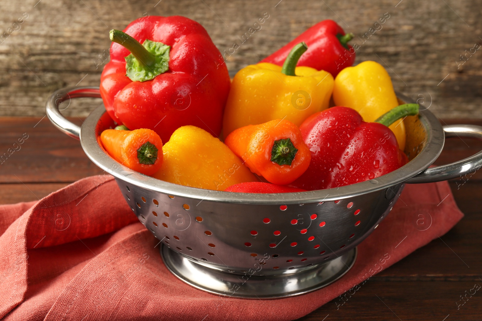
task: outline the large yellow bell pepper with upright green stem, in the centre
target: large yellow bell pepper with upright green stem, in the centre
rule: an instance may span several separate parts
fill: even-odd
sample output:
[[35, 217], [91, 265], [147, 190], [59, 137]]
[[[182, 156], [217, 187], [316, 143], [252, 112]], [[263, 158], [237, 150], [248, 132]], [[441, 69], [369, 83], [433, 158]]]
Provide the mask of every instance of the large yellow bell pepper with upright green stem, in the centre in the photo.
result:
[[300, 126], [310, 115], [328, 108], [333, 76], [310, 67], [295, 67], [308, 49], [296, 45], [282, 67], [252, 64], [234, 76], [224, 111], [223, 133], [273, 119], [286, 119]]

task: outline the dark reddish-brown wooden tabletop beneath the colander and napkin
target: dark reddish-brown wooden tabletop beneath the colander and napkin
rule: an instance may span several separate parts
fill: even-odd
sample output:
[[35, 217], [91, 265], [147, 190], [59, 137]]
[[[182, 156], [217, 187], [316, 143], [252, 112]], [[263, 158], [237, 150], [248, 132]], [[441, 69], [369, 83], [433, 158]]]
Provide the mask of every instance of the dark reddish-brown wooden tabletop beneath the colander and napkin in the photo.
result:
[[[81, 123], [80, 118], [71, 120]], [[480, 120], [444, 123], [482, 125]], [[11, 153], [0, 161], [0, 204], [36, 200], [102, 173], [79, 141], [62, 134], [46, 117], [0, 117], [0, 137], [0, 156]], [[22, 138], [21, 145], [13, 145]], [[481, 141], [450, 139], [436, 163], [453, 162], [481, 149]], [[456, 304], [474, 284], [482, 285], [481, 172], [450, 182], [466, 215], [451, 231], [371, 277], [339, 309], [332, 301], [300, 320], [482, 320], [482, 292], [468, 296], [458, 309]]]

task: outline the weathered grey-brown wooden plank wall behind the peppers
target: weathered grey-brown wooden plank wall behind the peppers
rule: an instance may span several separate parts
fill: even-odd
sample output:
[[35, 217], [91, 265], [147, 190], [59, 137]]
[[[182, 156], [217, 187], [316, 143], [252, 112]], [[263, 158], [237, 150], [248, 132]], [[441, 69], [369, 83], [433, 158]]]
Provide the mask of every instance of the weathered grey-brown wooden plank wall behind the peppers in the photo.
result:
[[[200, 22], [220, 51], [240, 45], [227, 59], [231, 72], [334, 19], [360, 37], [352, 40], [361, 46], [356, 63], [385, 65], [396, 90], [444, 119], [482, 118], [482, 49], [460, 59], [482, 44], [482, 0], [0, 0], [0, 8], [0, 116], [43, 116], [54, 90], [98, 85], [109, 29], [146, 14], [179, 14]], [[265, 13], [261, 29], [241, 43]], [[386, 13], [382, 28], [363, 42]], [[76, 102], [65, 113], [87, 116], [94, 107]]]

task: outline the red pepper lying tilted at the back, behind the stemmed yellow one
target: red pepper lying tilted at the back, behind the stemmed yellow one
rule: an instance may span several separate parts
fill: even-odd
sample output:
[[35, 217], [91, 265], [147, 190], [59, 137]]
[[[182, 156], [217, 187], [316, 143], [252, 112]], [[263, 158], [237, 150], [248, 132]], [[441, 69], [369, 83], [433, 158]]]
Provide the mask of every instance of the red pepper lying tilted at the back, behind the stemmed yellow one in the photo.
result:
[[355, 50], [347, 42], [353, 38], [333, 20], [323, 20], [296, 37], [280, 50], [263, 59], [264, 62], [282, 65], [290, 50], [299, 42], [308, 45], [298, 66], [325, 70], [336, 77], [345, 67], [355, 62]]

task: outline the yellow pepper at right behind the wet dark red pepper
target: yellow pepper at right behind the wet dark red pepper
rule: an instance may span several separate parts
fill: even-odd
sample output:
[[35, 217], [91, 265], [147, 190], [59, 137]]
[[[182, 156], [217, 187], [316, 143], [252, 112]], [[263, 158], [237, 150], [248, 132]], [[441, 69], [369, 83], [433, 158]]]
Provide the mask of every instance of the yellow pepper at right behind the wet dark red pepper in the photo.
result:
[[[385, 68], [374, 61], [365, 61], [340, 71], [335, 78], [333, 100], [337, 106], [355, 109], [363, 120], [373, 122], [399, 105]], [[405, 148], [403, 119], [389, 126], [397, 137], [401, 150]]]

